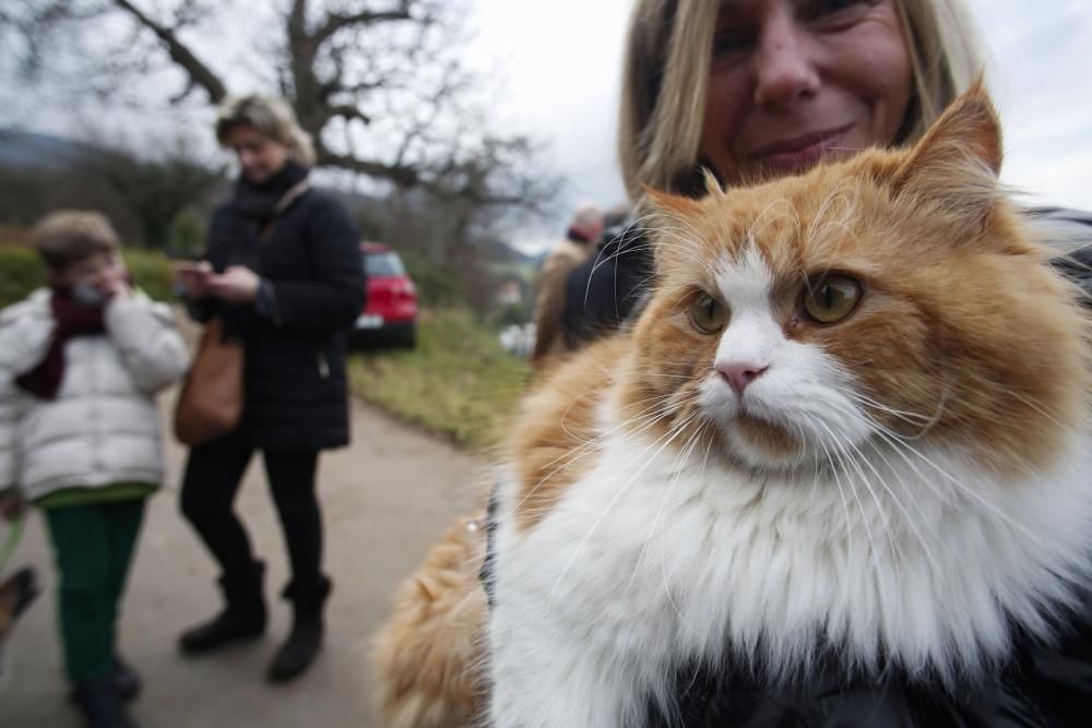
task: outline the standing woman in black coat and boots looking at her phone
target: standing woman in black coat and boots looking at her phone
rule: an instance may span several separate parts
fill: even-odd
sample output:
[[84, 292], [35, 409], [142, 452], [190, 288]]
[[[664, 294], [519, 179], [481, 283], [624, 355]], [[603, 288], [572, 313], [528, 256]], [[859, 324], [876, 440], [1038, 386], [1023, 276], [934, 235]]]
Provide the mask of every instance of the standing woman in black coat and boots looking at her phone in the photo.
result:
[[271, 681], [310, 665], [322, 641], [331, 582], [321, 571], [322, 521], [314, 489], [319, 452], [349, 441], [345, 331], [364, 303], [359, 235], [345, 208], [308, 183], [310, 141], [281, 99], [228, 100], [216, 123], [241, 175], [212, 216], [206, 260], [180, 271], [191, 314], [219, 317], [244, 343], [238, 428], [190, 451], [181, 509], [223, 570], [226, 606], [181, 635], [200, 654], [261, 635], [261, 561], [233, 502], [261, 450], [284, 528], [295, 621], [270, 665]]

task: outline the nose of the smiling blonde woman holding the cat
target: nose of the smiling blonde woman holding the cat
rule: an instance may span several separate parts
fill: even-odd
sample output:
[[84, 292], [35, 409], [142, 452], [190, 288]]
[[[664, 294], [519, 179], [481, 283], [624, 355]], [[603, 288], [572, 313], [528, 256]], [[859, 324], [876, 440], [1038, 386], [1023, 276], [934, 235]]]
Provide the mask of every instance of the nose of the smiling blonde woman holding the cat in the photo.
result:
[[819, 91], [808, 32], [784, 9], [761, 29], [755, 59], [755, 105], [790, 106]]

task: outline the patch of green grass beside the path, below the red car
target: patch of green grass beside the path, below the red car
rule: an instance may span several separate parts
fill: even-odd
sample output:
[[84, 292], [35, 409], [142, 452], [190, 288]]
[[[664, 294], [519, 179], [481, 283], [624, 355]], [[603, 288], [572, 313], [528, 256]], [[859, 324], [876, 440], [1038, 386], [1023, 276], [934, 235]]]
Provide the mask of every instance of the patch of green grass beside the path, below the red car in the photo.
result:
[[349, 365], [364, 399], [472, 450], [500, 442], [530, 378], [525, 361], [460, 310], [423, 312], [416, 349], [365, 353]]

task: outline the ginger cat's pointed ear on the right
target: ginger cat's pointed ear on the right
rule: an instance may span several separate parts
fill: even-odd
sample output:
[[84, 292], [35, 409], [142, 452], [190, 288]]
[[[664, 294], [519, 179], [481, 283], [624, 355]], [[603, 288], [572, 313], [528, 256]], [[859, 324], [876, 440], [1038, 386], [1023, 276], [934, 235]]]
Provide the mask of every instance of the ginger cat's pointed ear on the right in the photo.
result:
[[1001, 124], [980, 76], [897, 168], [895, 195], [981, 228], [998, 199], [1001, 156]]

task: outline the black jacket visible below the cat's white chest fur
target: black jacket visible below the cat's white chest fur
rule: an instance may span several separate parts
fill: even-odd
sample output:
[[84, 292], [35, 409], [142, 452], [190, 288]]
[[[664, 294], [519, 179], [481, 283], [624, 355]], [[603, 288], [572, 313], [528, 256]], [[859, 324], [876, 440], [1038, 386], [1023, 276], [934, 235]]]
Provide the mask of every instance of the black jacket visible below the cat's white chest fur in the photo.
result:
[[1018, 644], [976, 683], [943, 689], [898, 670], [850, 677], [826, 663], [806, 681], [770, 688], [748, 669], [680, 670], [678, 709], [649, 709], [646, 728], [1087, 728], [1092, 726], [1092, 625], [1057, 647]]

